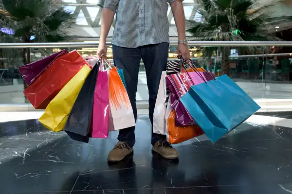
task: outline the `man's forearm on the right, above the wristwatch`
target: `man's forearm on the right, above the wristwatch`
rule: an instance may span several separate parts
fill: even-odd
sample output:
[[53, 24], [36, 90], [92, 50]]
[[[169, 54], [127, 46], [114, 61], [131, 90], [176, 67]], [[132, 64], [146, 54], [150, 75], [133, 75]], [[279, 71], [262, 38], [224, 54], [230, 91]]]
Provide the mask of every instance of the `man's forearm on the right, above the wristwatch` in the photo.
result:
[[179, 39], [183, 40], [185, 39], [185, 18], [183, 12], [183, 2], [181, 0], [177, 0], [176, 2], [172, 3], [170, 7], [173, 13], [175, 25], [177, 27]]

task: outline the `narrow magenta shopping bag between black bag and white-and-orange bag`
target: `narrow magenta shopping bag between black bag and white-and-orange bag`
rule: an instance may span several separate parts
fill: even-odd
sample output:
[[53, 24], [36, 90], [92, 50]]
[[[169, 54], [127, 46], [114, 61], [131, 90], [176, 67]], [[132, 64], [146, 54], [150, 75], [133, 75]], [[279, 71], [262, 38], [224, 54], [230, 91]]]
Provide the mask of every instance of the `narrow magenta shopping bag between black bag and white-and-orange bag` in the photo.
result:
[[92, 138], [108, 138], [109, 135], [109, 78], [103, 67], [101, 58], [93, 97]]

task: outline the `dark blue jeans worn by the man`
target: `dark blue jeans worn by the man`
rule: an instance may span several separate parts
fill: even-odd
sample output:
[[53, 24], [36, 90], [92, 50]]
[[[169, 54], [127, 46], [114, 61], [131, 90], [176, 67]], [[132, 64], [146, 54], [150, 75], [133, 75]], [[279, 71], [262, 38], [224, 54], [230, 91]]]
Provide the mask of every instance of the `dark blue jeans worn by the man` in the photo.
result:
[[[147, 86], [149, 91], [149, 119], [153, 128], [153, 112], [156, 103], [162, 71], [166, 70], [169, 44], [146, 45], [138, 48], [124, 48], [112, 45], [113, 61], [117, 68], [123, 69], [127, 85], [128, 96], [133, 108], [135, 120], [137, 120], [136, 93], [138, 87], [138, 75], [141, 59], [146, 69]], [[165, 140], [165, 135], [153, 133], [151, 144], [156, 141]], [[119, 131], [119, 141], [128, 143], [129, 146], [135, 144], [135, 127], [129, 127]]]

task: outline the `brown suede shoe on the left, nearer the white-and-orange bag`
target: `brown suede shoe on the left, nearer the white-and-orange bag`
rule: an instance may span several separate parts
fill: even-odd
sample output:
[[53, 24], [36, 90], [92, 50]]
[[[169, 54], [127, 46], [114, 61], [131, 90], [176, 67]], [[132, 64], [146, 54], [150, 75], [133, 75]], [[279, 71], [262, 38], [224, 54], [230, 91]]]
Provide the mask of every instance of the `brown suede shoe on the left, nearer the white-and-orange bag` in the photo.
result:
[[108, 161], [118, 162], [133, 152], [133, 148], [127, 143], [119, 141], [109, 153]]

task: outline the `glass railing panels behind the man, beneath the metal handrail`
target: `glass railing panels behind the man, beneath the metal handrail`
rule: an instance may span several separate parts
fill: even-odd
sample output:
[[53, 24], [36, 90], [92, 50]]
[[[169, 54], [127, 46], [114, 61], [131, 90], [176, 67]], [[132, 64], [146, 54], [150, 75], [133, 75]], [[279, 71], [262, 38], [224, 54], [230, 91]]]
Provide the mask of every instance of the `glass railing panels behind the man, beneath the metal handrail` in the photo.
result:
[[[108, 58], [112, 59], [110, 43]], [[243, 88], [252, 98], [292, 98], [292, 42], [201, 42], [192, 41], [190, 54], [193, 60], [206, 71], [219, 76], [222, 70], [220, 50], [228, 47], [230, 54], [227, 60], [230, 77]], [[176, 42], [169, 47], [169, 60], [176, 59]], [[254, 46], [256, 51], [250, 54], [246, 48]], [[265, 49], [261, 49], [267, 46]], [[84, 57], [94, 56], [98, 45], [90, 42], [70, 43], [25, 43], [0, 44], [0, 104], [27, 104], [24, 95], [24, 84], [18, 67], [24, 61], [36, 61], [61, 49], [77, 50]], [[201, 47], [218, 47], [211, 59], [201, 57]], [[269, 51], [267, 51], [267, 48]], [[30, 57], [23, 55], [24, 49], [29, 50]], [[248, 53], [249, 54], [246, 54]], [[242, 54], [241, 54], [242, 53]], [[138, 102], [147, 102], [148, 91], [143, 61], [140, 63]]]

